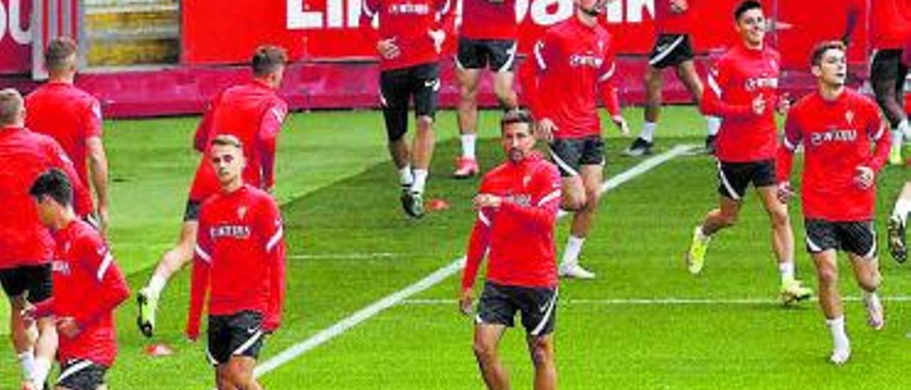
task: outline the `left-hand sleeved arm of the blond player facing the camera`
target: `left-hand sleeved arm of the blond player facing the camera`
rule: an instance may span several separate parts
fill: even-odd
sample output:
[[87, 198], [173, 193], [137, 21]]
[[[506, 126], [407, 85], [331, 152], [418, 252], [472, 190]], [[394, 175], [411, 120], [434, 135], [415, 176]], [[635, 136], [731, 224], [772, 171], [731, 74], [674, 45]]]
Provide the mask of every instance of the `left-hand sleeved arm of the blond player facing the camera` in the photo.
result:
[[187, 328], [184, 331], [184, 334], [190, 340], [196, 340], [200, 337], [202, 310], [205, 305], [206, 294], [209, 292], [212, 242], [209, 235], [209, 223], [206, 221], [205, 214], [205, 210], [200, 213], [200, 226], [196, 233], [196, 248], [193, 249], [193, 274], [189, 287], [189, 312], [187, 313]]

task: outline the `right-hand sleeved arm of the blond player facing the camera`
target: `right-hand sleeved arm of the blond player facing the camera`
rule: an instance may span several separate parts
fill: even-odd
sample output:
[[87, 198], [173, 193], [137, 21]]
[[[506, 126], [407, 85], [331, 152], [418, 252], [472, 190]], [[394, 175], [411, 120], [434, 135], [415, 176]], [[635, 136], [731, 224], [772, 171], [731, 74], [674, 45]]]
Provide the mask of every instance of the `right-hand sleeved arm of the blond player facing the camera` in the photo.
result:
[[265, 242], [266, 261], [269, 264], [269, 313], [266, 313], [262, 327], [274, 332], [281, 325], [281, 310], [285, 297], [285, 241], [281, 227], [281, 213], [278, 206], [270, 201], [260, 221]]

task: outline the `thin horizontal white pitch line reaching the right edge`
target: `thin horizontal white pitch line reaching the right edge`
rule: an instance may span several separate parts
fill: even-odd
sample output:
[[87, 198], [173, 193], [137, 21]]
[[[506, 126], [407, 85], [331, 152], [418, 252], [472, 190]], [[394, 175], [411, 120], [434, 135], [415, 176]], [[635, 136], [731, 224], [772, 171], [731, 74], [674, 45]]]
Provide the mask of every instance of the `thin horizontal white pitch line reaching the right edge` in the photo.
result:
[[[911, 296], [896, 295], [880, 297], [883, 302], [911, 302]], [[842, 298], [847, 302], [860, 302], [859, 296], [846, 296]], [[808, 301], [816, 302], [817, 298], [811, 298]], [[435, 305], [454, 305], [455, 299], [406, 299], [402, 305], [415, 306], [435, 306]], [[672, 305], [703, 305], [703, 304], [780, 304], [777, 299], [772, 298], [616, 298], [616, 299], [564, 299], [560, 300], [561, 305], [568, 304], [591, 304], [591, 305], [630, 305], [630, 306], [672, 306]]]

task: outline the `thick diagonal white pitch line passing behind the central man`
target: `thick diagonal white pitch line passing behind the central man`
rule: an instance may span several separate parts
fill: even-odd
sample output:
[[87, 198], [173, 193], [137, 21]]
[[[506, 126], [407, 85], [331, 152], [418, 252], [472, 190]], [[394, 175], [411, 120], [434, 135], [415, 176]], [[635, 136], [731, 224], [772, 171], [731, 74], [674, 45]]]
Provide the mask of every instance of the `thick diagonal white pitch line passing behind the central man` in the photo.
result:
[[[650, 169], [654, 169], [655, 167], [667, 162], [670, 159], [684, 155], [694, 148], [696, 147], [693, 145], [678, 145], [664, 153], [661, 153], [658, 156], [646, 159], [640, 162], [639, 165], [636, 165], [633, 168], [630, 168], [620, 173], [619, 175], [605, 181], [601, 186], [601, 192], [613, 190], [620, 184], [635, 179]], [[562, 217], [563, 215], [565, 215], [565, 213], [558, 214], [558, 218]], [[408, 297], [411, 297], [418, 292], [423, 292], [438, 282], [442, 282], [444, 279], [455, 274], [455, 272], [459, 272], [464, 267], [464, 264], [465, 256], [462, 256], [456, 259], [454, 262], [450, 262], [445, 267], [437, 270], [436, 272], [427, 275], [424, 279], [421, 279], [420, 281], [415, 282], [414, 284], [405, 287], [402, 290], [393, 292], [392, 294], [375, 303], [371, 303], [363, 309], [349, 315], [348, 317], [345, 317], [342, 321], [334, 323], [332, 326], [323, 329], [317, 334], [313, 334], [301, 343], [293, 344], [292, 346], [288, 347], [288, 349], [281, 351], [280, 354], [276, 354], [269, 360], [266, 360], [262, 364], [258, 365], [253, 371], [253, 375], [260, 377], [261, 375], [268, 374], [272, 370], [280, 367], [282, 364], [286, 364], [292, 361], [294, 358], [307, 353], [313, 348], [316, 348], [317, 346], [320, 346], [321, 344], [332, 340], [333, 338], [345, 333], [354, 326], [367, 321], [374, 315], [379, 314], [398, 303], [402, 303], [404, 300], [408, 299]]]

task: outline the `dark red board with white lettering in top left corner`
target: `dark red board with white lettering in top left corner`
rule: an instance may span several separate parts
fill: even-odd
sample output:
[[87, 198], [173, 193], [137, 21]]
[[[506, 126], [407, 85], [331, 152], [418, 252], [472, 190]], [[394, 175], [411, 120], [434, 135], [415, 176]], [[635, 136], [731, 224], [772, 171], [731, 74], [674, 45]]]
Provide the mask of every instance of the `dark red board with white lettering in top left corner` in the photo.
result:
[[32, 70], [32, 0], [0, 0], [0, 74]]

